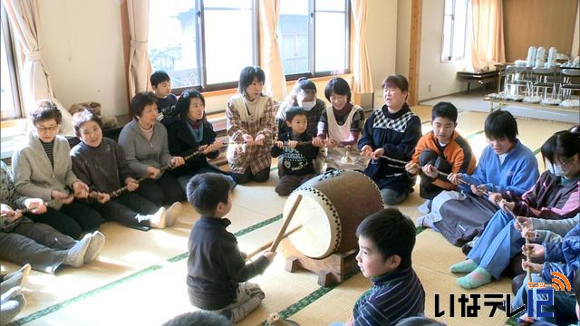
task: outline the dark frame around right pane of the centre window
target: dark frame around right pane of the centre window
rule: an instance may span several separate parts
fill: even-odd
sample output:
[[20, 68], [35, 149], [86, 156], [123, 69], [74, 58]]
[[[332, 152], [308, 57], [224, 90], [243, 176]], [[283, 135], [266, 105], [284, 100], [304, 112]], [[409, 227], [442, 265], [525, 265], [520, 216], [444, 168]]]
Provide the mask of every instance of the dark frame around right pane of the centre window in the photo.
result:
[[[341, 75], [345, 73], [351, 72], [351, 2], [349, 0], [343, 0], [345, 3], [344, 6], [344, 61], [346, 62], [346, 68], [337, 71], [321, 71], [316, 72], [315, 61], [316, 61], [316, 0], [308, 0], [308, 16], [309, 16], [309, 24], [308, 24], [308, 70], [309, 72], [299, 72], [299, 73], [288, 73], [285, 74], [285, 80], [288, 82], [296, 81], [302, 77], [306, 77], [308, 79], [311, 78], [318, 78], [318, 77], [327, 77], [327, 76], [334, 76], [334, 75]], [[322, 12], [330, 12], [330, 11], [322, 11]]]

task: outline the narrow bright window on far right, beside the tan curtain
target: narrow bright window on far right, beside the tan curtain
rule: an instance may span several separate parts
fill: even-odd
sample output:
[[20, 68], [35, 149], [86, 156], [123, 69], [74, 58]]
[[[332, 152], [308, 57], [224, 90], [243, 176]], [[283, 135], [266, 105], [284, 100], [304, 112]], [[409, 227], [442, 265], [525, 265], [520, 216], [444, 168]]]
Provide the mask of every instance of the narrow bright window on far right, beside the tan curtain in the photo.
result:
[[465, 56], [467, 29], [468, 0], [445, 0], [441, 61], [451, 61]]

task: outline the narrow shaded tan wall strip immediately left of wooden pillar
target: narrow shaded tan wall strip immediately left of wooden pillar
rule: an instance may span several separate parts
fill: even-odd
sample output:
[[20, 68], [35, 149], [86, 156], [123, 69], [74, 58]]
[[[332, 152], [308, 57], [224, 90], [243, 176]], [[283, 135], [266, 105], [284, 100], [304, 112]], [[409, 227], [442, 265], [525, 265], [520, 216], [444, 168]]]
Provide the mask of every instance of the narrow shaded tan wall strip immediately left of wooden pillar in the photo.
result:
[[409, 77], [411, 46], [411, 0], [397, 1], [397, 62], [395, 72]]

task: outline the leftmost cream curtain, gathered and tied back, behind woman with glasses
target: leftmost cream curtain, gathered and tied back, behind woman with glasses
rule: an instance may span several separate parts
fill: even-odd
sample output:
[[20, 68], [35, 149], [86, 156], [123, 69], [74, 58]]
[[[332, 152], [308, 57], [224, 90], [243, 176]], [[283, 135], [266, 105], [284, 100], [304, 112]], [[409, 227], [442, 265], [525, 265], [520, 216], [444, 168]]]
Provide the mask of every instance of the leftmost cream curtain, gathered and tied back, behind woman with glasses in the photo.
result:
[[51, 100], [63, 113], [63, 123], [59, 133], [73, 135], [73, 117], [56, 100], [50, 75], [42, 60], [40, 43], [40, 16], [37, 0], [3, 0], [10, 26], [24, 50], [24, 68], [22, 79], [22, 100], [24, 114], [28, 115], [36, 108], [36, 102]]

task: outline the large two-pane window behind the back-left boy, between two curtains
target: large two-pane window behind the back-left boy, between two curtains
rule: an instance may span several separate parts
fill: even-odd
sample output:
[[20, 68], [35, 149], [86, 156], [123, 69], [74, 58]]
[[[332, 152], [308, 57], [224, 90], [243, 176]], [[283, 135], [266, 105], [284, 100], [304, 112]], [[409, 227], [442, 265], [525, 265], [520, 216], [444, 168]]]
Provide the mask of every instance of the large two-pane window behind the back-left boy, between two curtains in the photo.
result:
[[255, 0], [150, 0], [149, 53], [173, 88], [237, 85], [256, 64]]

